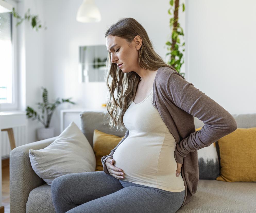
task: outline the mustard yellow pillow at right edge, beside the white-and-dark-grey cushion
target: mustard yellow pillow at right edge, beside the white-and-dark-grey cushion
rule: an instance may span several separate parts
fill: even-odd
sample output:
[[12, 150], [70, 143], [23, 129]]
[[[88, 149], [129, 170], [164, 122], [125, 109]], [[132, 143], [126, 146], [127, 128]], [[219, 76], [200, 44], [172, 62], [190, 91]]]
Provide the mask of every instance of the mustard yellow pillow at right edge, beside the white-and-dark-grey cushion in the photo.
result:
[[237, 128], [219, 139], [218, 181], [256, 182], [256, 127]]

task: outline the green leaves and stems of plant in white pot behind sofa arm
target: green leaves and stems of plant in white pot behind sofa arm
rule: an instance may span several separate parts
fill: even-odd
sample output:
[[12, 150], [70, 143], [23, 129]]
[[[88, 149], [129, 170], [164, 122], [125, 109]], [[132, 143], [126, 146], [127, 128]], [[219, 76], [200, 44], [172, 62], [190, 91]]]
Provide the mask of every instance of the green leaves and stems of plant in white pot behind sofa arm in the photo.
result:
[[[71, 98], [62, 99], [61, 100], [62, 102], [59, 100], [59, 98], [57, 98], [54, 103], [49, 103], [47, 89], [44, 87], [41, 87], [41, 88], [43, 90], [43, 93], [42, 93], [43, 102], [36, 103], [38, 105], [38, 109], [42, 110], [41, 118], [40, 118], [40, 115], [29, 106], [26, 109], [27, 111], [26, 115], [27, 115], [27, 118], [32, 118], [32, 120], [38, 119], [44, 125], [45, 128], [48, 128], [50, 126], [50, 121], [51, 121], [53, 112], [58, 107], [59, 104], [62, 104], [64, 102], [68, 102], [71, 104], [75, 104], [75, 103], [70, 101]], [[46, 114], [46, 120], [45, 120], [45, 114]]]

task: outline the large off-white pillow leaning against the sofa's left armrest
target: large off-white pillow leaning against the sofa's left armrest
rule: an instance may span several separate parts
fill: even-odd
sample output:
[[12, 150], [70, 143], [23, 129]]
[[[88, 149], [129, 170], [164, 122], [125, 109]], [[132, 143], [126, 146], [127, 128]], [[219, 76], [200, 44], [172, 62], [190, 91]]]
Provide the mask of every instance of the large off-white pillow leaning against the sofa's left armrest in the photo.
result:
[[62, 175], [94, 172], [96, 157], [88, 140], [72, 121], [64, 131], [44, 149], [29, 149], [31, 166], [48, 185]]

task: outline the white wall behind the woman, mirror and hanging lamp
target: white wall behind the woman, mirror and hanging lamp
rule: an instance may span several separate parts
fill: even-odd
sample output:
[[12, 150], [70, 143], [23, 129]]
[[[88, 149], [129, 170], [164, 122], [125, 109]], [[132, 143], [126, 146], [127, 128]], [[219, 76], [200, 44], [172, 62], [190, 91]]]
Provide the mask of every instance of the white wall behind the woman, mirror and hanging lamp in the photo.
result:
[[[48, 29], [32, 32], [25, 28], [26, 83], [24, 106], [41, 102], [41, 86], [48, 88], [50, 101], [57, 97], [78, 103], [60, 105], [51, 125], [60, 134], [60, 110], [100, 108], [105, 103], [105, 83], [79, 83], [79, 46], [105, 45], [108, 27], [123, 17], [133, 17], [146, 29], [156, 52], [165, 59], [170, 29], [169, 1], [149, 4], [141, 1], [95, 1], [102, 21], [75, 20], [82, 0], [23, 0], [25, 10], [38, 13]], [[182, 3], [181, 1], [180, 3]], [[35, 4], [37, 3], [37, 5]], [[255, 113], [255, 12], [254, 1], [185, 1], [186, 15], [180, 10], [180, 23], [186, 37], [185, 72], [192, 82], [231, 114]], [[33, 9], [32, 9], [33, 8]], [[186, 23], [186, 25], [185, 25]], [[254, 83], [254, 84], [253, 84]], [[254, 92], [254, 93], [253, 93]], [[35, 140], [40, 123], [29, 120], [29, 140]]]

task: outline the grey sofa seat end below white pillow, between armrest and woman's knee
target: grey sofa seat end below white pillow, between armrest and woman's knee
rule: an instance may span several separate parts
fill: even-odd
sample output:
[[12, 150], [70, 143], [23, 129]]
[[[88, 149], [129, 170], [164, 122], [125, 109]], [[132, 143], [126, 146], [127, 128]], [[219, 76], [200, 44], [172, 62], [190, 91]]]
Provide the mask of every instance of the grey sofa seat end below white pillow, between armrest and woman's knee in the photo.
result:
[[56, 213], [53, 201], [51, 186], [48, 184], [41, 185], [29, 193], [26, 203], [26, 213]]

